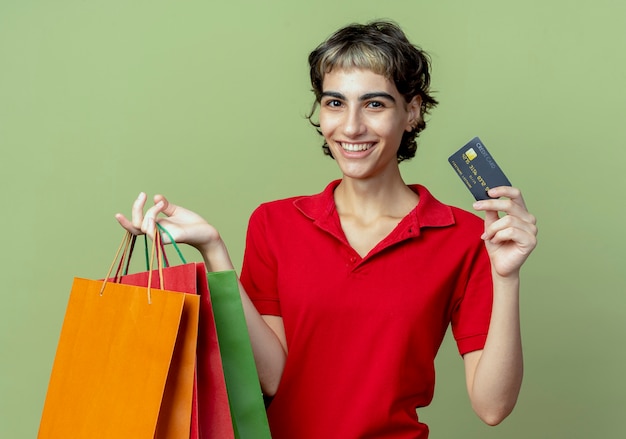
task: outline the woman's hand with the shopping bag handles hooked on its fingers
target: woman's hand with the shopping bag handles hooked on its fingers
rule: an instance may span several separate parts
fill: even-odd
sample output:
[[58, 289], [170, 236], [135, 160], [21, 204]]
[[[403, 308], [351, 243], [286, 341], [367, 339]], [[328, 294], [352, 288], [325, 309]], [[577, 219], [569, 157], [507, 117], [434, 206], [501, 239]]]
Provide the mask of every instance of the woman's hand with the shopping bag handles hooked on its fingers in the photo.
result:
[[[158, 222], [167, 229], [176, 243], [189, 244], [203, 254], [208, 252], [212, 245], [223, 244], [217, 229], [197, 213], [170, 203], [163, 195], [155, 195], [154, 206], [144, 214], [146, 200], [146, 194], [140, 193], [133, 203], [130, 220], [121, 213], [115, 215], [120, 225], [132, 234], [146, 234], [154, 238], [155, 222]], [[160, 213], [165, 217], [158, 217]], [[169, 243], [167, 235], [163, 236], [163, 242]]]

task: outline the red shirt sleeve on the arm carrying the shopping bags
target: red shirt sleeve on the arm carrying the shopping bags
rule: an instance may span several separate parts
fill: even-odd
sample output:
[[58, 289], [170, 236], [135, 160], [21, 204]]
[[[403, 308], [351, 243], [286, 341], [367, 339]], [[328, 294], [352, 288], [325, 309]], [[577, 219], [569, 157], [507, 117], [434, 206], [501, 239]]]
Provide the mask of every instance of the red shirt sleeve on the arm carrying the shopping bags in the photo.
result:
[[276, 258], [268, 242], [264, 205], [251, 215], [241, 270], [241, 284], [260, 314], [281, 316], [278, 298]]

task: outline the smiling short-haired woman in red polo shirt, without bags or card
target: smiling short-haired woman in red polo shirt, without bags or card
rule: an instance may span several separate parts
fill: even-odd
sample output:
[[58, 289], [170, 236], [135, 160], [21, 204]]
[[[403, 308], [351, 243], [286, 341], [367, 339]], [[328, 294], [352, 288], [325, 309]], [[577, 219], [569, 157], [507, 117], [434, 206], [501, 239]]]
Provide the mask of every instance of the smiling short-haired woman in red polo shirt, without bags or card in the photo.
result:
[[[522, 381], [519, 274], [535, 218], [516, 188], [475, 203], [483, 221], [405, 184], [399, 162], [436, 101], [426, 54], [395, 24], [340, 29], [309, 63], [316, 126], [342, 178], [257, 208], [240, 277], [272, 436], [427, 438], [416, 408], [432, 399], [450, 324], [472, 406], [498, 424]], [[209, 270], [233, 269], [204, 219], [160, 195], [144, 214], [145, 203], [120, 224], [142, 234], [159, 221]]]

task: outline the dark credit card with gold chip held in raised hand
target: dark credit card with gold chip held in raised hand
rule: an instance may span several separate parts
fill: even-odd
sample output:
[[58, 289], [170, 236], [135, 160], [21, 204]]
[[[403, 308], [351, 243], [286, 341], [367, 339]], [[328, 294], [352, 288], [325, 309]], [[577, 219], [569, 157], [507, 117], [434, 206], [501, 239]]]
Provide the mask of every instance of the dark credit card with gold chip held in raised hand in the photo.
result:
[[492, 187], [511, 186], [511, 182], [487, 151], [485, 144], [474, 137], [448, 161], [476, 200], [487, 200]]

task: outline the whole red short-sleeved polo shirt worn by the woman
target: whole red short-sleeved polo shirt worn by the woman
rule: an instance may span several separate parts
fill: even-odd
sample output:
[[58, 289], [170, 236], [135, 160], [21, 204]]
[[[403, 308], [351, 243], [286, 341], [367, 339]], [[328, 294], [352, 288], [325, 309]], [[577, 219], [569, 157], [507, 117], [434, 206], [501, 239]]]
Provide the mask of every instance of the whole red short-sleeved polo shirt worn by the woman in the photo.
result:
[[282, 316], [289, 351], [272, 437], [426, 438], [415, 409], [432, 400], [448, 325], [461, 354], [487, 336], [483, 221], [411, 186], [417, 207], [361, 258], [341, 229], [338, 184], [250, 218], [241, 282], [261, 314]]

